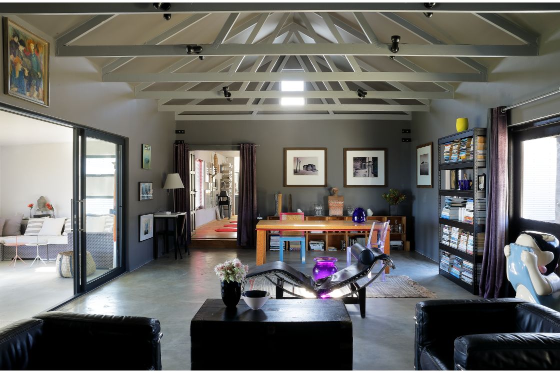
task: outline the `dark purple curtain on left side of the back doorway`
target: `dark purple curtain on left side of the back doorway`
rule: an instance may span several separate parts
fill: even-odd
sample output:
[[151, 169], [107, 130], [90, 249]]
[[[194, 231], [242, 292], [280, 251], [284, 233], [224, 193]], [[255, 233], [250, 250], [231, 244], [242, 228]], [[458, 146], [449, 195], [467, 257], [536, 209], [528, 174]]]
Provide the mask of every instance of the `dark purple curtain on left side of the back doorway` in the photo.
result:
[[183, 189], [174, 189], [175, 208], [177, 211], [186, 211], [186, 243], [190, 243], [190, 174], [189, 174], [189, 145], [173, 144], [173, 169], [178, 173], [185, 186]]

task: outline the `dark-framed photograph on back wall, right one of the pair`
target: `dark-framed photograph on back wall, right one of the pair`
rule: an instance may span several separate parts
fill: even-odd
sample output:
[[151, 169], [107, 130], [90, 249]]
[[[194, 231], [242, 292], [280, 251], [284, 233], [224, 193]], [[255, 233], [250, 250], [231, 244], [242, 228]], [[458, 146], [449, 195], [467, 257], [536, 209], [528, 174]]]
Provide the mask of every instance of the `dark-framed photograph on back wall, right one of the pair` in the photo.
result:
[[344, 148], [344, 187], [386, 187], [387, 149]]

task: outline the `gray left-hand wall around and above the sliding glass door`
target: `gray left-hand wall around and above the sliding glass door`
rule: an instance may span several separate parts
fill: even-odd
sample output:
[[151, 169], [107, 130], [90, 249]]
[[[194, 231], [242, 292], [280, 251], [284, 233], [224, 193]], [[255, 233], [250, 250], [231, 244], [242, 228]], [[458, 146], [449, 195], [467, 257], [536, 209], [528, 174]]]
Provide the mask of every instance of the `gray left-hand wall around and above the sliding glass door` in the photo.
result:
[[[44, 35], [20, 18], [11, 18], [30, 31]], [[54, 40], [49, 41], [52, 43], [50, 107], [4, 94], [0, 95], [0, 102], [128, 138], [129, 177], [124, 197], [128, 202], [128, 269], [133, 270], [152, 259], [152, 240], [138, 242], [138, 215], [171, 209], [171, 199], [162, 186], [165, 175], [173, 167], [173, 114], [157, 112], [154, 100], [133, 100], [133, 90], [128, 84], [102, 83], [100, 68], [86, 58], [55, 57]], [[141, 169], [142, 143], [152, 145], [152, 168], [149, 170]], [[138, 201], [139, 181], [153, 181], [152, 201]], [[62, 203], [57, 201], [57, 204]]]

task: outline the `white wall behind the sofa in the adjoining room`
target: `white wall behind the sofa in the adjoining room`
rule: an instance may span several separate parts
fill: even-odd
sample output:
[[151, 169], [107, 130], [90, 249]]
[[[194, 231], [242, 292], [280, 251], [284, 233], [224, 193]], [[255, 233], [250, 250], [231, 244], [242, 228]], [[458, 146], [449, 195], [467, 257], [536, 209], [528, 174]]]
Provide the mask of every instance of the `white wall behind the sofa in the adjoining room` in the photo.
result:
[[[68, 129], [68, 131], [72, 131]], [[45, 196], [57, 218], [70, 214], [72, 199], [72, 143], [4, 145], [0, 148], [1, 216], [23, 213]]]

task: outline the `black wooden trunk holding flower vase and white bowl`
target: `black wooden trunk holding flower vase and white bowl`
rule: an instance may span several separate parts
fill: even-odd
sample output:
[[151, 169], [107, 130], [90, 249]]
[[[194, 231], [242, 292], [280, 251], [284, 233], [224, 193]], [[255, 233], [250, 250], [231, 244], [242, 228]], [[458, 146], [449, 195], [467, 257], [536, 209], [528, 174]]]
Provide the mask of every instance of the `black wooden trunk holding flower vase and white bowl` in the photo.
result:
[[352, 348], [340, 299], [269, 299], [260, 310], [207, 299], [190, 322], [191, 370], [352, 370]]

